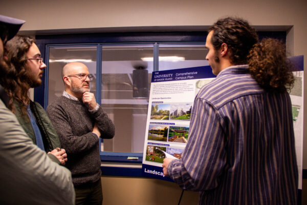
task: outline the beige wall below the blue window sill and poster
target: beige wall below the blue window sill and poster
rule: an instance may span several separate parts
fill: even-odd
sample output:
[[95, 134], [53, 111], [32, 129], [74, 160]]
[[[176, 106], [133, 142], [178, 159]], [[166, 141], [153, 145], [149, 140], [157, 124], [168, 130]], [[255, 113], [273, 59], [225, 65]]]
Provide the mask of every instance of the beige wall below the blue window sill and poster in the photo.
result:
[[[182, 190], [173, 182], [151, 178], [101, 177], [103, 204], [178, 204]], [[184, 191], [181, 205], [197, 205], [198, 192]]]

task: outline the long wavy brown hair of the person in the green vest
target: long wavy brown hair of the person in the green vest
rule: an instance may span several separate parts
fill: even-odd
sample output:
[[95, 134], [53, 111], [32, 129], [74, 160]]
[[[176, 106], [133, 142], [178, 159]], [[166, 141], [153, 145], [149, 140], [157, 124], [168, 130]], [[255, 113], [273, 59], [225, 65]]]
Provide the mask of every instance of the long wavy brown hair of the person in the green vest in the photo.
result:
[[9, 69], [5, 73], [3, 87], [9, 95], [9, 109], [15, 112], [13, 100], [15, 99], [21, 106], [21, 110], [26, 113], [26, 105], [30, 104], [28, 90], [30, 83], [26, 67], [27, 52], [32, 44], [35, 43], [34, 38], [28, 36], [16, 35], [6, 44]]

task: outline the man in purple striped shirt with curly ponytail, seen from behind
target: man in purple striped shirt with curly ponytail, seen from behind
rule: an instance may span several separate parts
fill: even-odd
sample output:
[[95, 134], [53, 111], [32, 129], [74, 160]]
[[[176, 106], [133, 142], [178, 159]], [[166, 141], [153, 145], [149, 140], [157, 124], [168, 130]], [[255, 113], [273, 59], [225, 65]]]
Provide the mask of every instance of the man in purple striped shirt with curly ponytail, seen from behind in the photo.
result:
[[217, 75], [196, 95], [181, 159], [164, 175], [199, 204], [296, 204], [298, 170], [284, 45], [258, 37], [244, 19], [209, 29], [206, 59]]

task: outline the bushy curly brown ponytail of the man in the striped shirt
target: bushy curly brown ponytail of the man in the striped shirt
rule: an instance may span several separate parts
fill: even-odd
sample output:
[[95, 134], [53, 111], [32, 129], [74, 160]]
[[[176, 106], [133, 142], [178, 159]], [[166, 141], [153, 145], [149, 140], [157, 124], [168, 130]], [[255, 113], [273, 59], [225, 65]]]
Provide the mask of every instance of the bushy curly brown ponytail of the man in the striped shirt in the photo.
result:
[[269, 92], [290, 91], [293, 87], [293, 64], [286, 57], [286, 46], [277, 39], [264, 38], [248, 55], [250, 74]]

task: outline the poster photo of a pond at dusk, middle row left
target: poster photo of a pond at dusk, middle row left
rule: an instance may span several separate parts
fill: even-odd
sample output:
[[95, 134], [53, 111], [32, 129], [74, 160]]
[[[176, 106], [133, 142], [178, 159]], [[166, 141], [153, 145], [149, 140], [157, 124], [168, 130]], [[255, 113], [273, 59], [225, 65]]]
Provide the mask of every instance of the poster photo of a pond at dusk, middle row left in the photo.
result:
[[148, 140], [167, 141], [167, 125], [149, 125]]

